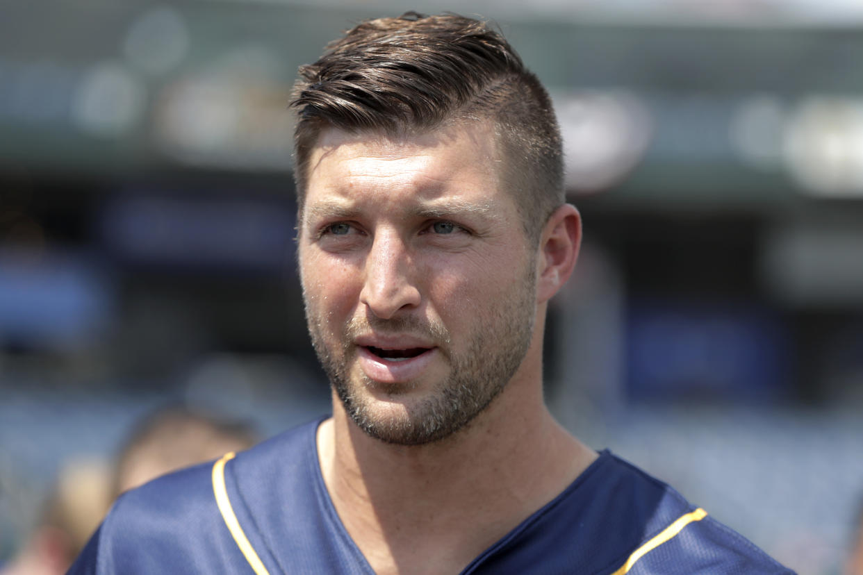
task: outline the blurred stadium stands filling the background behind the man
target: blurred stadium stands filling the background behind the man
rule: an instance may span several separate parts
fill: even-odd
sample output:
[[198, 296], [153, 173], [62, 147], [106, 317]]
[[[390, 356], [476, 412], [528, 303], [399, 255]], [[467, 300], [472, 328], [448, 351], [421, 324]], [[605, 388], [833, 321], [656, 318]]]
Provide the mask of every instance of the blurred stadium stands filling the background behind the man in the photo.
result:
[[498, 22], [585, 241], [547, 395], [801, 573], [863, 500], [859, 0], [0, 0], [0, 561], [166, 404], [328, 408], [293, 246], [297, 66], [366, 17]]

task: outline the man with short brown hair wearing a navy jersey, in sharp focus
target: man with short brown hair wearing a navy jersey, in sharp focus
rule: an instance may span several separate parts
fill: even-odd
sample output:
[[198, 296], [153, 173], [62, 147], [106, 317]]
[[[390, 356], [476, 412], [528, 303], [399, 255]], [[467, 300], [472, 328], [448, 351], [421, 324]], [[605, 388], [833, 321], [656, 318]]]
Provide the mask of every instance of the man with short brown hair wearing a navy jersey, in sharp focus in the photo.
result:
[[332, 416], [122, 497], [72, 572], [787, 572], [542, 396], [576, 262], [551, 102], [460, 16], [300, 70], [299, 272]]

